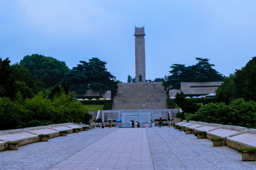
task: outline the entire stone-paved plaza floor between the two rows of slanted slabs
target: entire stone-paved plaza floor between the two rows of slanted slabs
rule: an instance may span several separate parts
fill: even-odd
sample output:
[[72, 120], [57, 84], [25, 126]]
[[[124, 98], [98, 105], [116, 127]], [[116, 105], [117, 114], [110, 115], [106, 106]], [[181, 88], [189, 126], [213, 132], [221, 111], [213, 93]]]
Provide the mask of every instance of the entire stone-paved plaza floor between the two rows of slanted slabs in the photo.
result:
[[256, 161], [173, 127], [107, 127], [2, 151], [0, 170], [256, 170]]

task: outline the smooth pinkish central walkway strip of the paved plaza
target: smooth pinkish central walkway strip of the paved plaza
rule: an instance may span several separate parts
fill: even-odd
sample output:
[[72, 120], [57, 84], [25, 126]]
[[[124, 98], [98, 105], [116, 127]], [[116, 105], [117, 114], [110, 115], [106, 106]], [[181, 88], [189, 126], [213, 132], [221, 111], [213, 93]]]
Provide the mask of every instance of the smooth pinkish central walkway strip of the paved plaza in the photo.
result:
[[49, 170], [81, 167], [83, 170], [154, 170], [146, 129], [118, 129]]

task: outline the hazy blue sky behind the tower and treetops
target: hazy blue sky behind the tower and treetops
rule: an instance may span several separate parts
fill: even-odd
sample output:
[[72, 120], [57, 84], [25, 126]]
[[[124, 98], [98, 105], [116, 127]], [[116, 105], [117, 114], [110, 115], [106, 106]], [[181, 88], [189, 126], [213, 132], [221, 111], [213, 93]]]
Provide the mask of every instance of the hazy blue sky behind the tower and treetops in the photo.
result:
[[256, 0], [0, 0], [0, 58], [42, 54], [69, 68], [97, 57], [135, 76], [134, 27], [145, 26], [146, 79], [208, 58], [225, 76], [256, 56]]

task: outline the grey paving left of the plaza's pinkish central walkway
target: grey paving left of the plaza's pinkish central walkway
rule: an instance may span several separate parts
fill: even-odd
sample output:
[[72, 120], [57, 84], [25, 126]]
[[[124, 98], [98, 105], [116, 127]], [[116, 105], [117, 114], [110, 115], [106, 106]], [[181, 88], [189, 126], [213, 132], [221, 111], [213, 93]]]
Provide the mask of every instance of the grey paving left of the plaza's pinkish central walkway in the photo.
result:
[[115, 130], [93, 128], [19, 146], [16, 151], [1, 151], [0, 170], [47, 170]]

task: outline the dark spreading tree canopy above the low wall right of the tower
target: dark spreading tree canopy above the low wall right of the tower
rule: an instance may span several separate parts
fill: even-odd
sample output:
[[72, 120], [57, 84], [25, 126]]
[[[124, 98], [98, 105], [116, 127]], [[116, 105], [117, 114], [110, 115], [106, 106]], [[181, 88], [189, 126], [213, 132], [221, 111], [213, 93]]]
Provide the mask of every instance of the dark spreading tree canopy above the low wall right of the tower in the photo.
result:
[[198, 63], [196, 65], [185, 67], [184, 64], [173, 64], [170, 76], [163, 83], [166, 89], [180, 89], [183, 82], [218, 82], [223, 81], [218, 71], [213, 69], [214, 64], [210, 64], [210, 59], [195, 58]]

